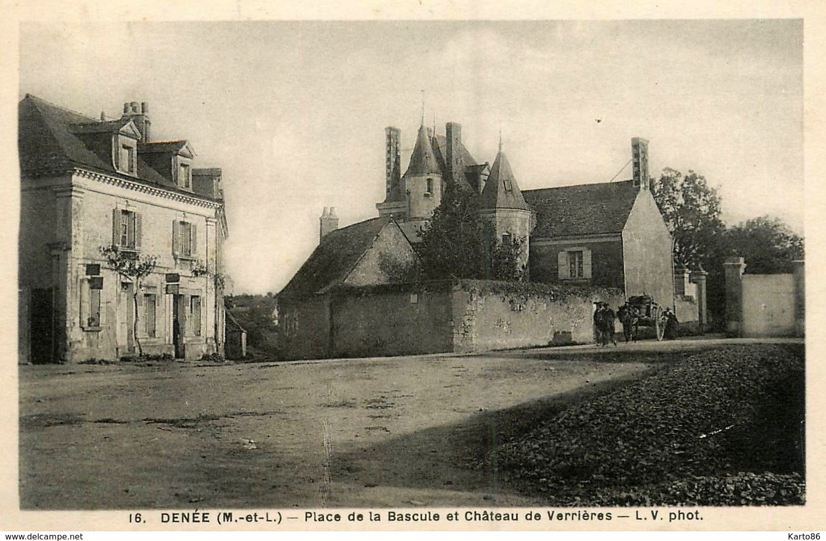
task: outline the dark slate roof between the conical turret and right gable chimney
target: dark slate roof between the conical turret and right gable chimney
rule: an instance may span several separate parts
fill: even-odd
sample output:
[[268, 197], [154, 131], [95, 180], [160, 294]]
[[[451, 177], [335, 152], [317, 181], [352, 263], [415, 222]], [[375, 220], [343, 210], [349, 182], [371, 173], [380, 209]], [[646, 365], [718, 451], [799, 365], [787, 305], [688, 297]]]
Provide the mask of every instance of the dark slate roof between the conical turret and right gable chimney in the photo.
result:
[[536, 212], [531, 237], [620, 233], [638, 191], [630, 180], [524, 190], [525, 202]]

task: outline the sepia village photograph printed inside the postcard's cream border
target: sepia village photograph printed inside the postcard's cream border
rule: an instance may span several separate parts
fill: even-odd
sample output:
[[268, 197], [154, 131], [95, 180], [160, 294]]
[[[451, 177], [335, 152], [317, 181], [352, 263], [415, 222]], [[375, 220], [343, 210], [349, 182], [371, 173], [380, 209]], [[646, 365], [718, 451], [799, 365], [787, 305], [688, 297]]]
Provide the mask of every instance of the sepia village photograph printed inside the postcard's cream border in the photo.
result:
[[12, 508], [802, 513], [808, 24], [20, 21]]

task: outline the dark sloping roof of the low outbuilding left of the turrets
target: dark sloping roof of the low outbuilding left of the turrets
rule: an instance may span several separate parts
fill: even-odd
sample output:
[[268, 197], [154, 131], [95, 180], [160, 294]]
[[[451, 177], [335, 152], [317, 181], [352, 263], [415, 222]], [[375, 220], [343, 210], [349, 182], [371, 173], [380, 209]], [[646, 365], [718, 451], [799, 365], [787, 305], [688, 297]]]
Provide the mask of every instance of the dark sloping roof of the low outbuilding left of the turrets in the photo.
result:
[[391, 220], [380, 216], [330, 231], [278, 295], [309, 297], [343, 283]]

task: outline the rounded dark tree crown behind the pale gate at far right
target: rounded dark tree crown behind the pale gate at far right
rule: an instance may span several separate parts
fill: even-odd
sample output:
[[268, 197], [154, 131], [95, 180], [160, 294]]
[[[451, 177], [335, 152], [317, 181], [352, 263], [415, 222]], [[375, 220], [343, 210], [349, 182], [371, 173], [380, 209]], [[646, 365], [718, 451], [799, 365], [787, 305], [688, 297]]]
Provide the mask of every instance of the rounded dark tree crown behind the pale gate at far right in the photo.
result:
[[746, 259], [748, 273], [790, 273], [803, 259], [803, 238], [779, 218], [760, 216], [734, 225], [726, 234], [729, 254]]

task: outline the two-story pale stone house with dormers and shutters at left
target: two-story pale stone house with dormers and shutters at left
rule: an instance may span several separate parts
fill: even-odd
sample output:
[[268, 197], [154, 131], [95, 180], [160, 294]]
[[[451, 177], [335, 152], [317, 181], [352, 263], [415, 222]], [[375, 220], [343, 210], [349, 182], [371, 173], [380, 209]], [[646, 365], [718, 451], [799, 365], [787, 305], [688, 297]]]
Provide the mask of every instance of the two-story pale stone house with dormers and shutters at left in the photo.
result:
[[[147, 354], [223, 352], [221, 169], [194, 168], [187, 140], [151, 140], [148, 112], [127, 102], [95, 120], [21, 100], [21, 363], [118, 358], [136, 339]], [[154, 272], [118, 275], [112, 245], [156, 258]]]

